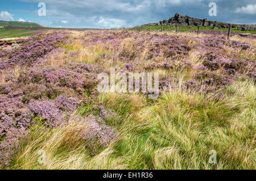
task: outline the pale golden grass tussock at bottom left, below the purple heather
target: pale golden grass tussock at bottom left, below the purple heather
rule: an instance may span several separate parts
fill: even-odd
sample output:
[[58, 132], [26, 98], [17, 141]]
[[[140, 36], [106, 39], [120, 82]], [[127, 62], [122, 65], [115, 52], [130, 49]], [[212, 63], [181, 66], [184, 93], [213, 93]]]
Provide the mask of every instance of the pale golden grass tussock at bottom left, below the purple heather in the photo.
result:
[[[121, 160], [110, 157], [113, 153], [111, 144], [100, 154], [90, 156], [86, 142], [80, 137], [85, 128], [86, 121], [75, 113], [63, 127], [48, 131], [33, 128], [35, 131], [16, 155], [13, 169], [123, 169]], [[39, 150], [45, 151], [45, 163], [38, 161]]]

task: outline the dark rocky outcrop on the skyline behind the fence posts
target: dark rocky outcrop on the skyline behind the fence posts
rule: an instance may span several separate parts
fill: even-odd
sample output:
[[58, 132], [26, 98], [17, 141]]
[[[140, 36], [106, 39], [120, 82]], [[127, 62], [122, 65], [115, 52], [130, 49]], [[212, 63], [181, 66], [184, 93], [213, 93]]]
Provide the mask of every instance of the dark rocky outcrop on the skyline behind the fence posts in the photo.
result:
[[[160, 21], [159, 23], [150, 23], [146, 24], [147, 26], [153, 26], [153, 25], [167, 25], [167, 26], [205, 26], [205, 27], [212, 27], [213, 29], [218, 28], [228, 28], [229, 23], [223, 23], [223, 22], [216, 22], [212, 20], [205, 19], [198, 19], [198, 18], [192, 18], [189, 16], [183, 16], [179, 13], [176, 13], [174, 17]], [[237, 28], [238, 30], [247, 31], [247, 30], [256, 30], [256, 24], [232, 24], [232, 28]]]

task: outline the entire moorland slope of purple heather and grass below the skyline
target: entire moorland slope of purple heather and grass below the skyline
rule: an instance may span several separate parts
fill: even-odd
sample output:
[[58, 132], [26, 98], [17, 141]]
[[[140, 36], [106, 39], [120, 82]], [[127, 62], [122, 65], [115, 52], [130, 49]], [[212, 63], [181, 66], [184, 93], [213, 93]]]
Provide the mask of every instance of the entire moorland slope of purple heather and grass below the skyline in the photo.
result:
[[[32, 36], [1, 52], [0, 167], [255, 169], [255, 47], [195, 32]], [[158, 98], [99, 92], [110, 68], [158, 73]]]

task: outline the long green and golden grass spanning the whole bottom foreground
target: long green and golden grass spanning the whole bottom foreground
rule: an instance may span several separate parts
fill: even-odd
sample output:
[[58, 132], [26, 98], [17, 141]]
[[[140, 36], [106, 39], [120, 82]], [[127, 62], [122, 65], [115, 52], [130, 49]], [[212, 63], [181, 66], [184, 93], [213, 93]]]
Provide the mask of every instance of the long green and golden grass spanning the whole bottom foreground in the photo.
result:
[[[119, 140], [89, 157], [82, 142], [73, 148], [54, 146], [77, 125], [34, 129], [9, 169], [255, 169], [254, 82], [237, 81], [220, 92], [223, 100], [166, 91], [151, 102], [139, 94], [102, 94], [98, 101], [117, 112], [107, 123], [117, 129]], [[51, 161], [39, 165], [36, 151], [48, 147]], [[216, 150], [216, 164], [209, 163], [210, 150]], [[70, 153], [76, 159], [70, 161]]]

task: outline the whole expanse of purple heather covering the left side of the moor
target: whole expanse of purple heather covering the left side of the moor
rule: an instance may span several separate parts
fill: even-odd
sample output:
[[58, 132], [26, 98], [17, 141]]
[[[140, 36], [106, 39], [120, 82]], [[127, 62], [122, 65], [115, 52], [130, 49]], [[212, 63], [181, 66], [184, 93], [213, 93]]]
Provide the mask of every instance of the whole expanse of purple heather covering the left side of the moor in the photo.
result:
[[[19, 50], [1, 54], [3, 69], [10, 69], [0, 84], [0, 161], [9, 165], [32, 125], [40, 120], [45, 127], [67, 123], [68, 116], [81, 103], [90, 102], [101, 66], [68, 63], [58, 66], [39, 65], [47, 53], [64, 41], [66, 35], [49, 33], [30, 37]], [[24, 53], [26, 52], [26, 53]], [[5, 59], [5, 53], [9, 53]], [[61, 95], [60, 95], [61, 94]], [[94, 93], [92, 93], [94, 94]], [[13, 144], [11, 144], [13, 142]]]

